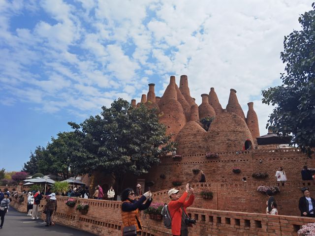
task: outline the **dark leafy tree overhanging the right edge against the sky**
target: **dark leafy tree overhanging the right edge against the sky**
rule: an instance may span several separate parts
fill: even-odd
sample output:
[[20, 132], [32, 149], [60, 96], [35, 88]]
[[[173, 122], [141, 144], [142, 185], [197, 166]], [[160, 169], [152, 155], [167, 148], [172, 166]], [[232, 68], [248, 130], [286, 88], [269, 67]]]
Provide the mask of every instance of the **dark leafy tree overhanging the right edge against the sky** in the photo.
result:
[[299, 146], [315, 147], [315, 10], [302, 14], [299, 23], [301, 30], [284, 37], [283, 85], [262, 91], [262, 102], [276, 105], [267, 127], [292, 133]]

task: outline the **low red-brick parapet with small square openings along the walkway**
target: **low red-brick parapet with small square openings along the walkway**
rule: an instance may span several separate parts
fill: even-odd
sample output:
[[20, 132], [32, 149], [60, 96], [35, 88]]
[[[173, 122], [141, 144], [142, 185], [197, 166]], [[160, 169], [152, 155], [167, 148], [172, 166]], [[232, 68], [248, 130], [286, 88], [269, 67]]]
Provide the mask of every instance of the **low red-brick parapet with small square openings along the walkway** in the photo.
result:
[[[154, 193], [154, 197], [164, 196], [166, 191]], [[68, 207], [64, 200], [57, 197], [58, 208], [54, 222], [93, 233], [95, 235], [121, 236], [121, 202], [78, 199], [78, 203], [88, 203], [87, 214], [81, 214], [75, 207]], [[212, 200], [209, 200], [212, 201]], [[14, 207], [18, 210], [18, 203]], [[21, 204], [22, 205], [22, 204]], [[42, 201], [40, 210], [44, 207]], [[189, 216], [197, 219], [197, 224], [189, 228], [190, 236], [296, 236], [301, 225], [313, 223], [314, 219], [300, 216], [266, 215], [246, 212], [233, 212], [189, 207]], [[42, 219], [45, 214], [42, 214]], [[141, 215], [143, 236], [171, 236], [170, 230], [161, 221], [152, 220], [147, 214]]]

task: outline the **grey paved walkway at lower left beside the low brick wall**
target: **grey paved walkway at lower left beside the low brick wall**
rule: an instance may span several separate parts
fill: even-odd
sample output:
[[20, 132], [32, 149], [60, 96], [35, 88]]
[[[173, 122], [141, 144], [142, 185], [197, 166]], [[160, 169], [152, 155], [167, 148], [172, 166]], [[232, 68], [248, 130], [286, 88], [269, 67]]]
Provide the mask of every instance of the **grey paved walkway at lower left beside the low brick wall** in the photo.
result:
[[46, 223], [43, 220], [31, 220], [31, 216], [10, 207], [9, 212], [5, 214], [0, 236], [94, 236], [88, 232], [62, 225], [49, 227], [45, 227], [45, 225]]

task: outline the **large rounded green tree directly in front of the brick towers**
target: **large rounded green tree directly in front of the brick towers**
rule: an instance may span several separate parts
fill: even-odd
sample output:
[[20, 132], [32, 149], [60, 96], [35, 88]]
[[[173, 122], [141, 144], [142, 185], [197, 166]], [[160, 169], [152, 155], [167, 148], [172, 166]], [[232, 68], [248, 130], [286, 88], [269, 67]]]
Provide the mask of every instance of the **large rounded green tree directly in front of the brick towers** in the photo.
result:
[[[102, 107], [101, 116], [90, 117], [80, 125], [69, 122], [82, 149], [72, 159], [76, 174], [94, 171], [112, 174], [121, 190], [126, 173], [148, 173], [159, 157], [172, 150], [173, 143], [165, 135], [155, 110], [145, 106], [132, 108], [119, 98], [110, 108]], [[162, 147], [162, 148], [161, 148]]]

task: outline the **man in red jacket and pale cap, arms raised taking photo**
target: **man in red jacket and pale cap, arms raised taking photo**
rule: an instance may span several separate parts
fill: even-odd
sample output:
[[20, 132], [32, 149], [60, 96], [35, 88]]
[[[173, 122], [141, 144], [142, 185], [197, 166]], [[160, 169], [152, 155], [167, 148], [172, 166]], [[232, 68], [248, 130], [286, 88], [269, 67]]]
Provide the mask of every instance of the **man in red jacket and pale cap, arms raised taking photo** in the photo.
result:
[[[190, 196], [185, 201], [188, 192], [190, 192]], [[186, 191], [181, 197], [179, 197], [179, 190], [172, 188], [168, 191], [168, 196], [172, 200], [168, 203], [168, 210], [172, 218], [172, 234], [173, 236], [188, 236], [188, 225], [185, 224], [186, 208], [191, 206], [195, 199], [193, 188], [189, 188], [189, 183], [186, 184]]]

